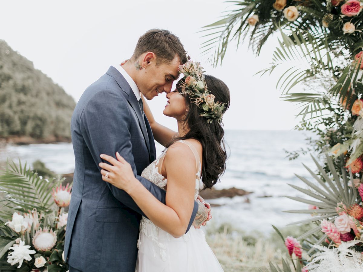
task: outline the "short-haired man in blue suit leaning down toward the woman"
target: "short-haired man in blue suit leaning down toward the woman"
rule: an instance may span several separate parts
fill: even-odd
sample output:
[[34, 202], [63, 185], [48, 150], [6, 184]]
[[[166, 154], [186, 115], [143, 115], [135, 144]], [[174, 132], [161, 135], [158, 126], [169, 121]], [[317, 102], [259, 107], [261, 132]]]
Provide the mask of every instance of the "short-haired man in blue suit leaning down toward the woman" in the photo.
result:
[[[71, 124], [76, 166], [64, 248], [70, 272], [135, 271], [144, 214], [125, 191], [102, 181], [99, 155], [115, 156], [118, 151], [135, 177], [165, 203], [165, 191], [140, 177], [156, 157], [140, 92], [148, 100], [169, 93], [179, 65], [186, 61], [178, 37], [167, 30], [149, 30], [139, 38], [127, 65], [111, 66], [79, 99]], [[195, 218], [200, 226], [207, 213], [195, 202], [188, 230]]]

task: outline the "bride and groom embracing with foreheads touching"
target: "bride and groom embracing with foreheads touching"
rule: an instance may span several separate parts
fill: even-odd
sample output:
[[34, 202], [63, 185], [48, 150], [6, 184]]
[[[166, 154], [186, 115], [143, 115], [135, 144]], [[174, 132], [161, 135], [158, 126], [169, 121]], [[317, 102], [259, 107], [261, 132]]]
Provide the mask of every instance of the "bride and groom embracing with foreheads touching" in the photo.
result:
[[[162, 92], [178, 132], [157, 123], [146, 103]], [[198, 191], [200, 180], [211, 188], [224, 172], [229, 102], [224, 82], [159, 29], [85, 90], [71, 124], [70, 272], [223, 271], [199, 228], [211, 215]], [[154, 139], [166, 147], [157, 158]]]

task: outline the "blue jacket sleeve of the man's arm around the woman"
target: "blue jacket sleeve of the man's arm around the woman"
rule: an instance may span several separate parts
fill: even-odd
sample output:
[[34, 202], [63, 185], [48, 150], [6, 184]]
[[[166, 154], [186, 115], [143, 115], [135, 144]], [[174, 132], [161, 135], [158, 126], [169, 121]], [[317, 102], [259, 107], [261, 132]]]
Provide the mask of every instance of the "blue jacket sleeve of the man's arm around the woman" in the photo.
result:
[[[119, 91], [121, 92], [121, 90]], [[146, 178], [138, 176], [137, 174], [134, 157], [132, 155], [130, 120], [128, 102], [122, 94], [113, 90], [102, 90], [94, 94], [87, 103], [82, 112], [79, 125], [85, 143], [98, 168], [98, 164], [101, 162], [101, 158], [99, 157], [100, 154], [107, 154], [115, 157], [115, 154], [118, 151], [120, 155], [131, 164], [135, 177], [154, 195], [154, 197], [165, 204], [166, 192]], [[99, 170], [101, 171], [100, 168]], [[102, 180], [101, 173], [100, 180]], [[145, 216], [129, 194], [108, 182], [106, 182], [106, 184], [118, 201]], [[195, 202], [187, 231], [194, 221], [197, 209], [198, 205]]]

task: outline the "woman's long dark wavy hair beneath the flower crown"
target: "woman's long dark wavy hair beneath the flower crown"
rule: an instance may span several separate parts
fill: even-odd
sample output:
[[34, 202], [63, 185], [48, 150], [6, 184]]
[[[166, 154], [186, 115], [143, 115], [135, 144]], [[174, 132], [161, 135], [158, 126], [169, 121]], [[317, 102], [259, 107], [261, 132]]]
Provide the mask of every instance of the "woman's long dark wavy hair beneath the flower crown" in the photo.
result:
[[[205, 75], [205, 82], [211, 94], [216, 96], [215, 102], [225, 103], [224, 113], [230, 103], [227, 85], [211, 75]], [[180, 84], [177, 84], [176, 88], [181, 92]], [[179, 140], [195, 139], [199, 141], [203, 147], [203, 166], [201, 169], [201, 179], [204, 184], [203, 190], [212, 188], [219, 180], [219, 176], [224, 173], [226, 167], [227, 152], [223, 140], [224, 130], [221, 122], [217, 120], [209, 124], [205, 117], [200, 116], [201, 109], [195, 103], [191, 103], [189, 95], [183, 94], [183, 96], [187, 105], [189, 105], [184, 119], [189, 132], [183, 137], [172, 139], [167, 144], [167, 147], [170, 147], [170, 145]]]

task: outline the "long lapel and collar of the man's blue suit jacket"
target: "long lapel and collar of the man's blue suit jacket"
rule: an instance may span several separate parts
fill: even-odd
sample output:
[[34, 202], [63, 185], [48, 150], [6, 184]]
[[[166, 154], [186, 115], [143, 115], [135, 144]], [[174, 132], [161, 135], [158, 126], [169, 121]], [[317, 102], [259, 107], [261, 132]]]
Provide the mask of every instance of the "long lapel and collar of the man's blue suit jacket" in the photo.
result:
[[144, 113], [141, 112], [139, 102], [136, 99], [134, 92], [132, 91], [130, 85], [127, 83], [126, 79], [120, 74], [119, 71], [117, 71], [115, 67], [110, 66], [106, 74], [113, 77], [116, 80], [117, 84], [120, 86], [121, 90], [129, 96], [128, 101], [131, 108], [135, 111], [135, 114], [139, 120], [139, 126], [141, 128], [142, 135], [144, 136], [144, 140], [147, 146], [147, 151], [149, 152], [149, 160], [150, 162], [153, 161], [151, 160], [150, 143], [144, 120]]

